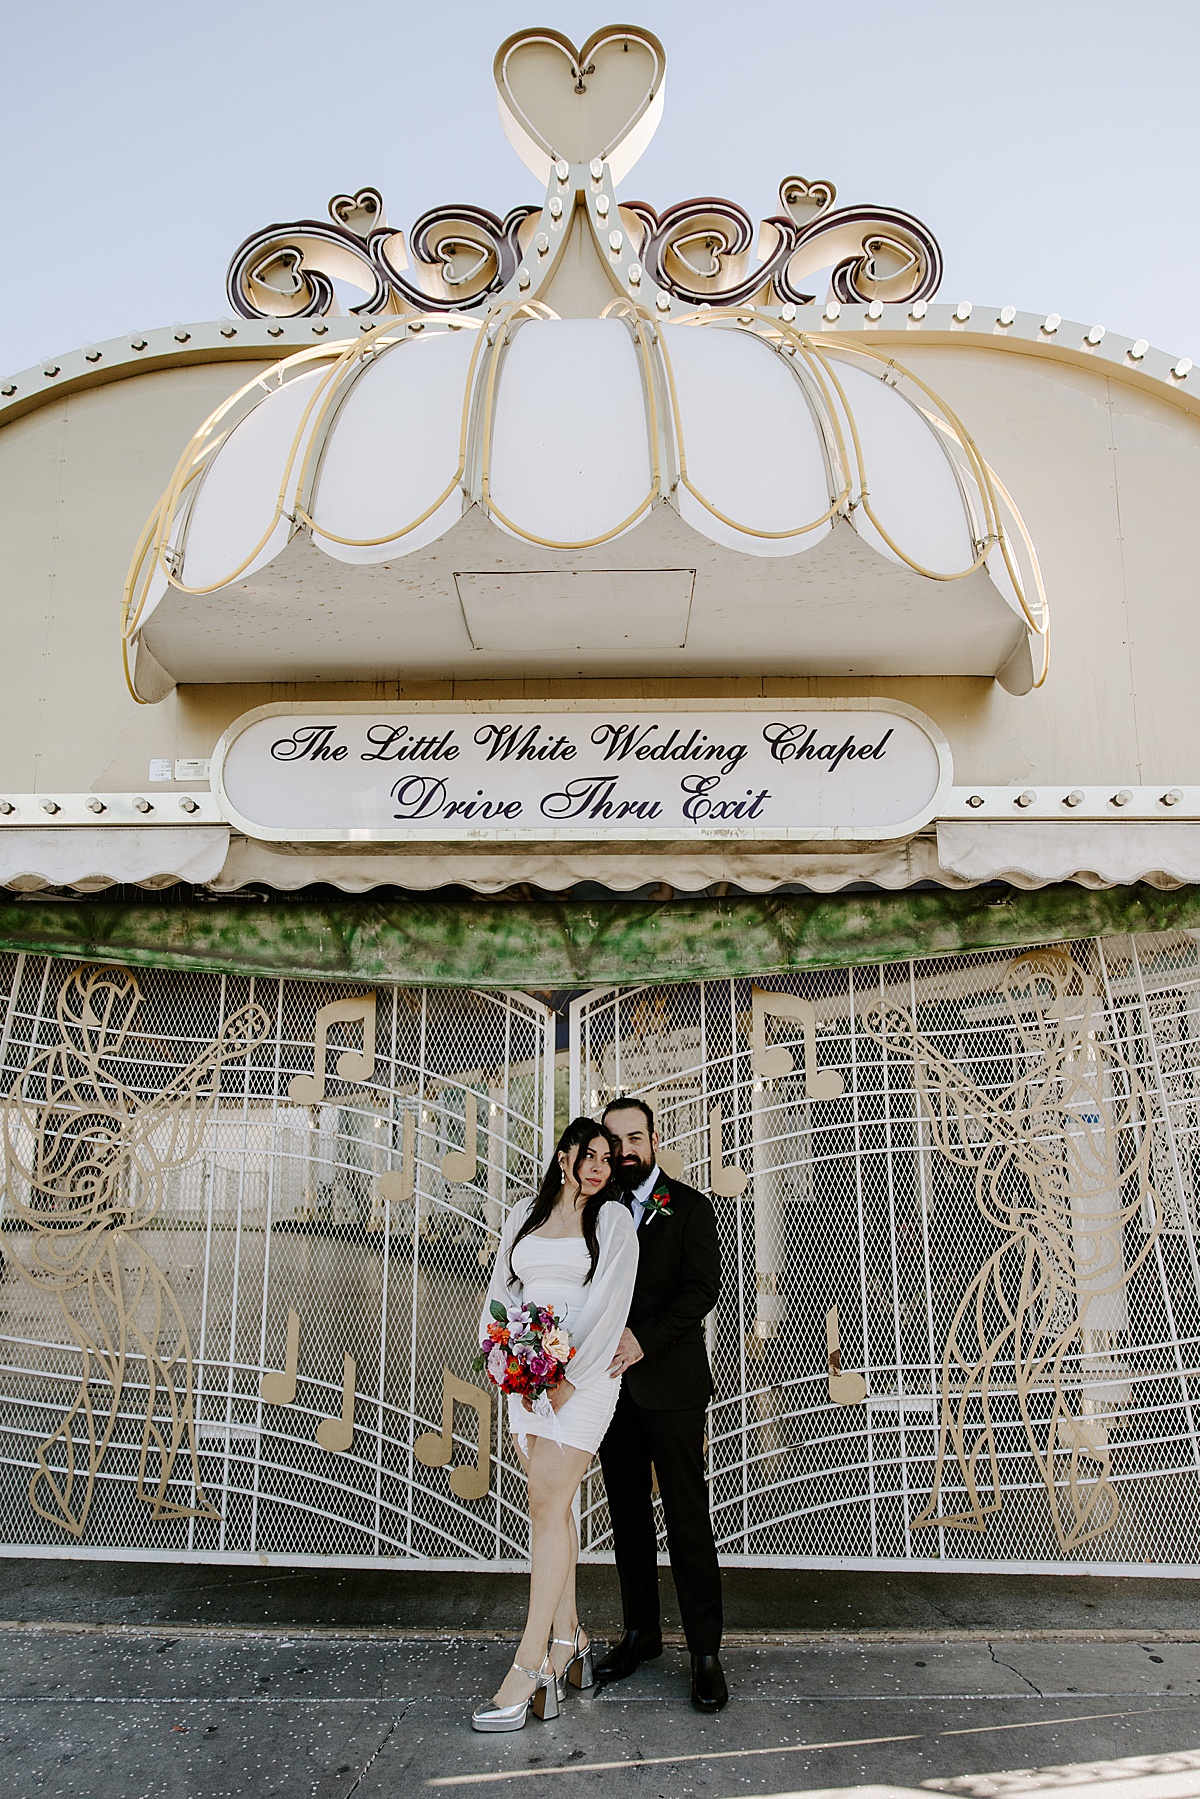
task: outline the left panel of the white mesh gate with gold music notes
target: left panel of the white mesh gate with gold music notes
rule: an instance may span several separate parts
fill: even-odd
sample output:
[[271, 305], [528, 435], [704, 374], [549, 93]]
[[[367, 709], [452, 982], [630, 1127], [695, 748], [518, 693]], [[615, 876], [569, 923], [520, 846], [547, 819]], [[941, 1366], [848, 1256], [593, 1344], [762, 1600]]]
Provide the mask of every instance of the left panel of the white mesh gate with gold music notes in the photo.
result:
[[0, 1020], [4, 1547], [520, 1562], [468, 1367], [552, 1015], [9, 955]]

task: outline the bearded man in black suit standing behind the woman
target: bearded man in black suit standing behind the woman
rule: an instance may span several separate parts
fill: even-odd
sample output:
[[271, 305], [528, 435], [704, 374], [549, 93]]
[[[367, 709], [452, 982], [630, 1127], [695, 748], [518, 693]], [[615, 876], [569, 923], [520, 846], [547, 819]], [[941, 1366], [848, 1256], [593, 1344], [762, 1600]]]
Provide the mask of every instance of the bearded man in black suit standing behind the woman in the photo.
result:
[[617, 1178], [637, 1225], [639, 1261], [630, 1322], [610, 1365], [613, 1380], [624, 1376], [621, 1398], [599, 1450], [624, 1635], [596, 1675], [622, 1680], [662, 1655], [653, 1464], [691, 1650], [691, 1702], [696, 1711], [720, 1711], [729, 1698], [720, 1662], [721, 1572], [703, 1470], [712, 1398], [703, 1320], [721, 1290], [716, 1218], [703, 1193], [658, 1168], [658, 1132], [644, 1099], [613, 1099], [603, 1123], [621, 1146]]

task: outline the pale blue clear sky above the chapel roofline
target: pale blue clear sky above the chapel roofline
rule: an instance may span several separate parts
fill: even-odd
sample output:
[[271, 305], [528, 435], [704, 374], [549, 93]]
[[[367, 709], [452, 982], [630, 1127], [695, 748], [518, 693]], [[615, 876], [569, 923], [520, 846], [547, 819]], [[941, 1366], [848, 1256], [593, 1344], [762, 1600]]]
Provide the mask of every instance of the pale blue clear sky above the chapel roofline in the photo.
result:
[[[626, 0], [622, 0], [626, 4]], [[1200, 362], [1196, 0], [0, 0], [0, 374], [228, 313], [250, 232], [381, 189], [389, 223], [540, 201], [497, 45], [612, 16], [667, 52], [622, 198], [779, 210], [790, 175], [901, 207], [943, 300], [1056, 311]]]

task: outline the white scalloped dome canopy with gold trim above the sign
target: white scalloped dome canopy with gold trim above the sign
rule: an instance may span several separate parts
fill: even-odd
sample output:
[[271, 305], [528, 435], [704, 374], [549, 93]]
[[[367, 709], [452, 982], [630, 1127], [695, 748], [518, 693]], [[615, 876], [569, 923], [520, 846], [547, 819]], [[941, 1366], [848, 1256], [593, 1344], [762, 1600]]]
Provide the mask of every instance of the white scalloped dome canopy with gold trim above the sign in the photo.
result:
[[146, 698], [631, 662], [1024, 691], [1036, 595], [1004, 488], [894, 358], [765, 309], [515, 304], [243, 389], [151, 520], [128, 635]]

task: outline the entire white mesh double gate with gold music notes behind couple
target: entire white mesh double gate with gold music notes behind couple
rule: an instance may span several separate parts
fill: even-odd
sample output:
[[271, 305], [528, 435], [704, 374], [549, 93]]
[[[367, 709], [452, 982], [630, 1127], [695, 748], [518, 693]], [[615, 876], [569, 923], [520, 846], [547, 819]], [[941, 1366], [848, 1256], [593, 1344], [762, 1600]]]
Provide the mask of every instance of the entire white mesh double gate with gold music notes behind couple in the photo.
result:
[[[0, 957], [0, 1547], [520, 1565], [470, 1360], [551, 1031]], [[592, 993], [572, 1103], [617, 1092], [716, 1200], [723, 1560], [1195, 1572], [1189, 934]]]

